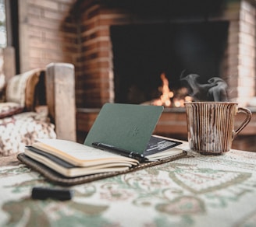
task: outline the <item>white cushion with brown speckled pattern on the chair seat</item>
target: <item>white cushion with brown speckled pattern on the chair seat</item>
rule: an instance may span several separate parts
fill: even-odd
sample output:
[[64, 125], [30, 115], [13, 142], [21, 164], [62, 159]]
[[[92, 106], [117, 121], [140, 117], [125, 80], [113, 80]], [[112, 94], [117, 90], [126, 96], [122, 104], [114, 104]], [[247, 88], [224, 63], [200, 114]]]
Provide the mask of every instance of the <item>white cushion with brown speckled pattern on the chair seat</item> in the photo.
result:
[[56, 138], [55, 126], [47, 116], [24, 112], [0, 119], [0, 156], [24, 151], [36, 138]]

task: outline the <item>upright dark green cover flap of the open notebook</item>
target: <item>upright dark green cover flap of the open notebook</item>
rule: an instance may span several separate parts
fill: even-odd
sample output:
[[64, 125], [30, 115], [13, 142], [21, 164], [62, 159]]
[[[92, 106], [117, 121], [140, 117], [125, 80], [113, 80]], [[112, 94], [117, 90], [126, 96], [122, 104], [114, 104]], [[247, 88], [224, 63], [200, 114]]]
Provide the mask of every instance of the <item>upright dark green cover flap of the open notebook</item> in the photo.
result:
[[142, 154], [164, 107], [105, 103], [84, 145], [101, 142]]

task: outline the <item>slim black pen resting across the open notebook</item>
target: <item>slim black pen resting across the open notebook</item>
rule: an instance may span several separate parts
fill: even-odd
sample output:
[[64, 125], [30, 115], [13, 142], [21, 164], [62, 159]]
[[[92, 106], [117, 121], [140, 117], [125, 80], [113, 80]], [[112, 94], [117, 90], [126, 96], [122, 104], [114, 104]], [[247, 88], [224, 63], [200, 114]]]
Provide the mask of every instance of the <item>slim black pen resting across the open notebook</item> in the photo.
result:
[[113, 152], [117, 155], [123, 155], [131, 159], [137, 159], [139, 162], [146, 162], [148, 161], [148, 158], [146, 158], [144, 155], [137, 153], [137, 152], [130, 152], [123, 148], [116, 148], [112, 145], [107, 145], [105, 143], [101, 142], [93, 142], [91, 144], [94, 148], [100, 148], [102, 150], [105, 150], [107, 152]]

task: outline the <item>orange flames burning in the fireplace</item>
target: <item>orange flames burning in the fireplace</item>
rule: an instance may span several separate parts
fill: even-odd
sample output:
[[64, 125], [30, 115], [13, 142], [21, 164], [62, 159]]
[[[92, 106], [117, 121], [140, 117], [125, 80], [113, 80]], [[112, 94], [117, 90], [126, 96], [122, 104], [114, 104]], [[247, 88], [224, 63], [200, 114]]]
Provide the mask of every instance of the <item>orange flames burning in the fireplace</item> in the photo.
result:
[[181, 88], [178, 93], [175, 94], [169, 89], [169, 81], [163, 72], [161, 74], [162, 86], [158, 88], [162, 95], [157, 99], [153, 100], [152, 105], [165, 106], [165, 107], [184, 107], [184, 103], [192, 101], [190, 96], [187, 96], [187, 89]]

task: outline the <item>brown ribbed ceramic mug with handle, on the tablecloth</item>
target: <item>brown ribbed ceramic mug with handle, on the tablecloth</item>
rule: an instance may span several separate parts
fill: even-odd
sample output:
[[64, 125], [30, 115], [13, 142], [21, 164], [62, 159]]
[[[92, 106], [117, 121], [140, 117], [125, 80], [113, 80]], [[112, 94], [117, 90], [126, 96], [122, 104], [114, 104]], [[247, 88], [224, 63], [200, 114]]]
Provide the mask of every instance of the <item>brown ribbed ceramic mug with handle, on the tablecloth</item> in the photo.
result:
[[[185, 107], [190, 149], [202, 154], [228, 152], [233, 139], [251, 120], [251, 111], [233, 102], [191, 102]], [[245, 113], [245, 119], [235, 130], [236, 113]]]

